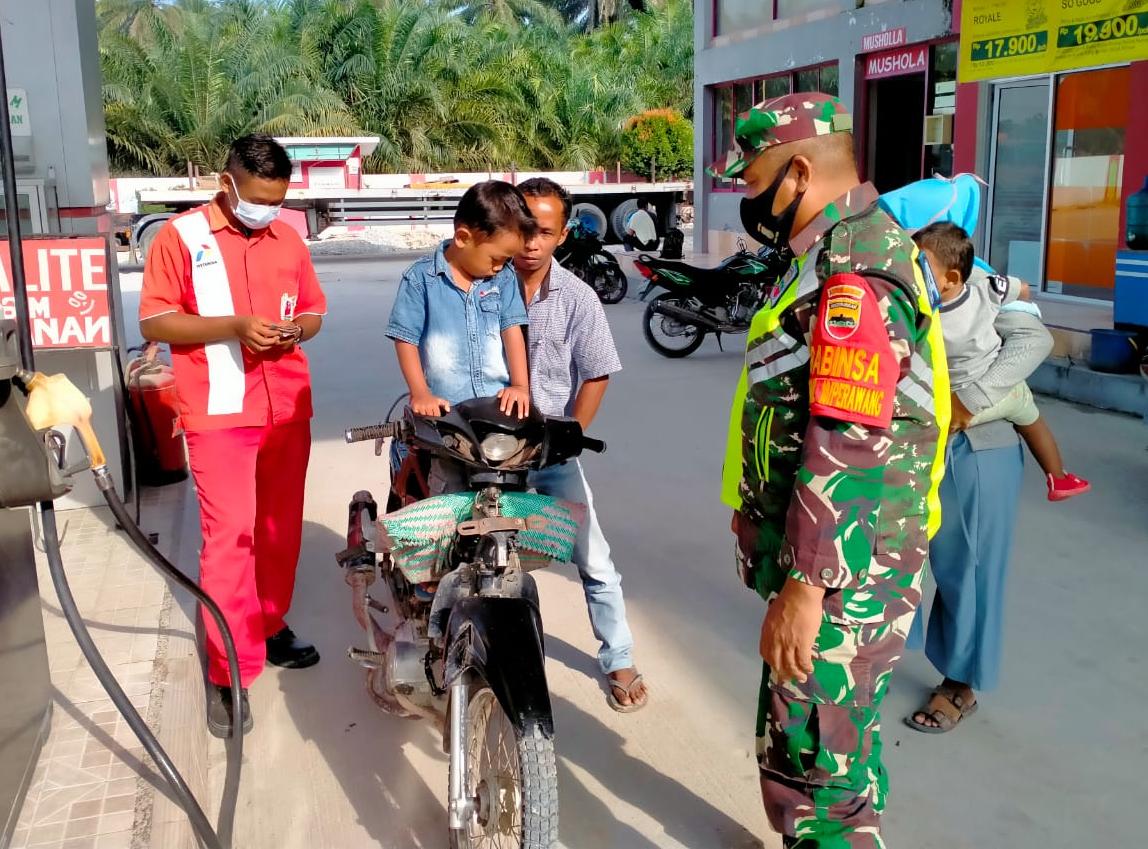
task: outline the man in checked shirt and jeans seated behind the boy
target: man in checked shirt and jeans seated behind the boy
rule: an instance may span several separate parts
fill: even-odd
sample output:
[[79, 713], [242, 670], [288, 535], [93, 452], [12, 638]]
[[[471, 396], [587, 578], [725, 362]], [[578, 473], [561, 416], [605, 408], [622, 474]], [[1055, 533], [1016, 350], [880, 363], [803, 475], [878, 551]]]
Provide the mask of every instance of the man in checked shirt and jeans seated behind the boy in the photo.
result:
[[[530, 325], [530, 391], [545, 415], [572, 415], [590, 427], [610, 375], [621, 371], [605, 311], [594, 290], [554, 262], [566, 239], [571, 198], [558, 184], [535, 178], [519, 186], [537, 221], [537, 233], [514, 258]], [[631, 656], [634, 637], [626, 621], [621, 577], [598, 525], [582, 466], [572, 460], [532, 475], [538, 492], [587, 506], [574, 547], [590, 624], [602, 642], [598, 662], [610, 686], [610, 706], [620, 712], [645, 707], [649, 694]]]

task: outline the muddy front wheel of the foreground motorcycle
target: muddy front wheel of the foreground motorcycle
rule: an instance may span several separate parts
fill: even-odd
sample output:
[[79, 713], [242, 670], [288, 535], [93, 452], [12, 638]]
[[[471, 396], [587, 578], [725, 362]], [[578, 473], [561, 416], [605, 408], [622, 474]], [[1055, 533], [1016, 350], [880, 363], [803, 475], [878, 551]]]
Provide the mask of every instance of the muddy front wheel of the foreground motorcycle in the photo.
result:
[[466, 707], [466, 794], [475, 800], [450, 849], [551, 849], [558, 842], [554, 742], [537, 723], [519, 731], [480, 681]]

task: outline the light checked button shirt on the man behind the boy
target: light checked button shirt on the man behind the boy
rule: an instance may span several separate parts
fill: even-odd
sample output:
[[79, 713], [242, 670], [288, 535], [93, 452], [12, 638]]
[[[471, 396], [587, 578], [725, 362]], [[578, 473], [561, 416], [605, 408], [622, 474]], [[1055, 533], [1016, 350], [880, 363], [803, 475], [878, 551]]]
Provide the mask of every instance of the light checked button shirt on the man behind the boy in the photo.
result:
[[545, 415], [571, 415], [584, 381], [622, 371], [606, 312], [594, 289], [557, 262], [527, 312], [530, 400]]

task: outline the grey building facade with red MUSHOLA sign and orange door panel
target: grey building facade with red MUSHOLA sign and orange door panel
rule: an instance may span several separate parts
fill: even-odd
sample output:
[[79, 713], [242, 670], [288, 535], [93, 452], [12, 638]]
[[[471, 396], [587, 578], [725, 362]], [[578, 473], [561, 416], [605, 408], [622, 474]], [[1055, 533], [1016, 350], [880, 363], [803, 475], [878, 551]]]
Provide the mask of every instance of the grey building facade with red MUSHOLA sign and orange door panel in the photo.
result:
[[698, 0], [695, 14], [696, 249], [727, 255], [743, 235], [740, 181], [704, 172], [737, 115], [821, 91], [851, 106], [881, 192], [975, 172], [991, 264], [1052, 297], [1112, 299], [1125, 202], [1148, 177], [1148, 62], [960, 83], [961, 0]]

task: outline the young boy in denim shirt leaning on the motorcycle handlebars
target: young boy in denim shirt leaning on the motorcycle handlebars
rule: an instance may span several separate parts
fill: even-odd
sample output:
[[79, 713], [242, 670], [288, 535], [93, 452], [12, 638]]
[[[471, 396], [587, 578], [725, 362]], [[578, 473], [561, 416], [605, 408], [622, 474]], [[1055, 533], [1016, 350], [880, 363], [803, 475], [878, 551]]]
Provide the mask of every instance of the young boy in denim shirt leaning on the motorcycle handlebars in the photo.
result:
[[[441, 415], [452, 404], [497, 395], [502, 411], [530, 408], [526, 306], [510, 260], [537, 226], [509, 182], [472, 186], [455, 212], [455, 235], [403, 273], [387, 337], [411, 392], [411, 408]], [[459, 473], [433, 462], [433, 494], [460, 489]]]

